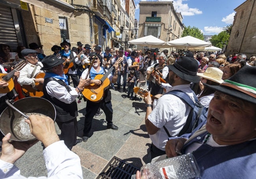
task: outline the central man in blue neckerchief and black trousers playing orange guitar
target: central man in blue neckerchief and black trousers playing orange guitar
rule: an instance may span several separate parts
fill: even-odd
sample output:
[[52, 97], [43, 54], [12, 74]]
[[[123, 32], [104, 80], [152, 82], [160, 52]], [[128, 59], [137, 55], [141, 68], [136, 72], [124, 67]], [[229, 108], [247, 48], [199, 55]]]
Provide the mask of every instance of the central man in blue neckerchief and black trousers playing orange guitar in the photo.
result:
[[[100, 81], [100, 79], [95, 79], [95, 77], [99, 74], [105, 74], [107, 70], [100, 66], [100, 59], [95, 53], [90, 54], [91, 61], [94, 59], [94, 62], [92, 64], [92, 68], [89, 71], [89, 69], [85, 69], [82, 74], [82, 79], [85, 79], [87, 77], [91, 78], [91, 83], [94, 85], [102, 85], [103, 81]], [[112, 76], [111, 73], [108, 75], [108, 79], [111, 83], [115, 83], [117, 81], [117, 65], [118, 63], [115, 63], [113, 66], [115, 67], [115, 73]], [[88, 75], [89, 74], [89, 75]], [[89, 132], [91, 130], [91, 125], [93, 121], [93, 116], [96, 114], [98, 108], [101, 108], [105, 115], [106, 115], [106, 121], [107, 121], [107, 129], [113, 129], [117, 130], [118, 127], [113, 124], [112, 118], [113, 118], [113, 109], [112, 109], [112, 103], [111, 103], [111, 92], [109, 90], [109, 87], [104, 91], [104, 96], [101, 101], [92, 102], [90, 100], [87, 100], [86, 102], [86, 114], [85, 114], [85, 122], [84, 122], [84, 128], [83, 128], [83, 141], [86, 142], [89, 138]]]

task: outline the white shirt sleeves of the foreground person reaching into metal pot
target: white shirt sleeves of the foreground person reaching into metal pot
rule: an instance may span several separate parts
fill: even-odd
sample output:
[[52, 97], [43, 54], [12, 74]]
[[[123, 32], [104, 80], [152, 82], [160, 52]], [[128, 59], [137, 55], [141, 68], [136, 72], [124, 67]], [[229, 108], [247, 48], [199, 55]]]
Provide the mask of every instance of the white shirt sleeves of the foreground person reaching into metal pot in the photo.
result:
[[15, 165], [0, 160], [0, 178], [7, 179], [82, 179], [80, 158], [64, 141], [54, 142], [43, 151], [48, 177], [24, 177]]

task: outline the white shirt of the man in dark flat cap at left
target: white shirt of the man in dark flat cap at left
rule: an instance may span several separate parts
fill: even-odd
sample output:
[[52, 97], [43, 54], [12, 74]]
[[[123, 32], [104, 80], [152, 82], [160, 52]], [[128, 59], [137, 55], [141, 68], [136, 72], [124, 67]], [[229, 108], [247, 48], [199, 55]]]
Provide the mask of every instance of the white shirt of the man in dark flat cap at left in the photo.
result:
[[[44, 71], [40, 70], [43, 67], [43, 64], [40, 61], [37, 62], [37, 64], [38, 65], [36, 66], [28, 63], [20, 70], [20, 76], [18, 78], [18, 83], [20, 83], [20, 85], [32, 85], [32, 87], [35, 87], [35, 76], [38, 73], [44, 73]], [[37, 69], [35, 70], [34, 75], [31, 77], [34, 68]]]

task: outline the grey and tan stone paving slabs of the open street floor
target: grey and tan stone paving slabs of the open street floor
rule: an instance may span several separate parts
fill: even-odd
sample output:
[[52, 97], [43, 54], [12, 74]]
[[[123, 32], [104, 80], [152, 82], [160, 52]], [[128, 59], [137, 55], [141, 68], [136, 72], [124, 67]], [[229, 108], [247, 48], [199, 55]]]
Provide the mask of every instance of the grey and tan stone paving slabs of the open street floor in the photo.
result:
[[[93, 119], [88, 141], [81, 142], [72, 149], [80, 157], [84, 179], [95, 179], [114, 155], [137, 167], [150, 162], [148, 152], [151, 140], [144, 123], [145, 103], [139, 102], [139, 98], [134, 101], [129, 100], [126, 98], [126, 93], [118, 90], [111, 90], [111, 94], [113, 123], [119, 127], [119, 130], [106, 129], [106, 116], [103, 114]], [[85, 101], [78, 103], [78, 137], [83, 135], [85, 106]], [[56, 131], [60, 133], [57, 125]], [[41, 142], [37, 142], [15, 162], [22, 175], [26, 177], [47, 175], [42, 152]]]

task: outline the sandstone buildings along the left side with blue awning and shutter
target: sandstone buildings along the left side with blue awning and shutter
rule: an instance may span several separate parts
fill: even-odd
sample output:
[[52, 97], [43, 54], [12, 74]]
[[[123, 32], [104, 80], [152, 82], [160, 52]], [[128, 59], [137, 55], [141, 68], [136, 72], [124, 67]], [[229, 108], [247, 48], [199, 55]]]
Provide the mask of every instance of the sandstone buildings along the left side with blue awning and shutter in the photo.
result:
[[[134, 5], [133, 0], [127, 7], [132, 7], [129, 11], [134, 13], [135, 5], [131, 4]], [[0, 5], [4, 12], [0, 22], [6, 22], [0, 25], [4, 29], [0, 43], [13, 50], [20, 45], [29, 48], [28, 44], [36, 42], [50, 55], [51, 47], [63, 40], [69, 41], [71, 47], [77, 47], [80, 41], [100, 44], [104, 50], [106, 46], [124, 46], [125, 40], [132, 38], [130, 33], [126, 39], [116, 37], [116, 32], [122, 30], [120, 21], [128, 19], [128, 26], [134, 27], [134, 20], [129, 20], [134, 15], [125, 11], [125, 1], [121, 6], [120, 0], [0, 0]]]

